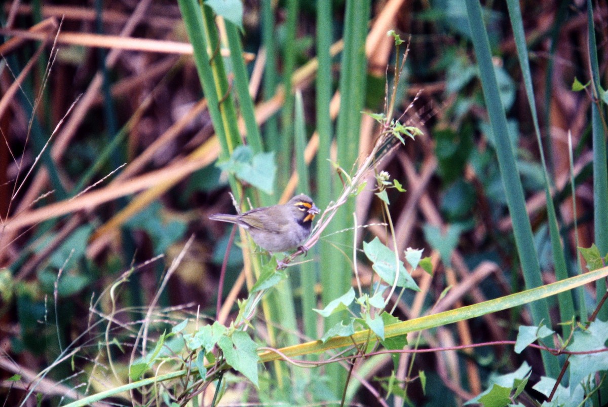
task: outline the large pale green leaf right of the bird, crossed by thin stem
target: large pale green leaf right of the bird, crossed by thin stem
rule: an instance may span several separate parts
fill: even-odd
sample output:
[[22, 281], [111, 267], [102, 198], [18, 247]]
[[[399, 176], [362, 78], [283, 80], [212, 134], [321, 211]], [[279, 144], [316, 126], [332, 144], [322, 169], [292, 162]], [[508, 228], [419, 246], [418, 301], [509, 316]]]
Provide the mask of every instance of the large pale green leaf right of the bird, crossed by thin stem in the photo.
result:
[[387, 284], [395, 283], [396, 266], [398, 266], [399, 277], [397, 279], [398, 287], [406, 287], [415, 291], [420, 291], [418, 285], [412, 279], [403, 262], [395, 260], [395, 252], [382, 245], [380, 239], [375, 237], [371, 242], [363, 242], [363, 251], [365, 256], [373, 263], [372, 267], [378, 273], [378, 276]]

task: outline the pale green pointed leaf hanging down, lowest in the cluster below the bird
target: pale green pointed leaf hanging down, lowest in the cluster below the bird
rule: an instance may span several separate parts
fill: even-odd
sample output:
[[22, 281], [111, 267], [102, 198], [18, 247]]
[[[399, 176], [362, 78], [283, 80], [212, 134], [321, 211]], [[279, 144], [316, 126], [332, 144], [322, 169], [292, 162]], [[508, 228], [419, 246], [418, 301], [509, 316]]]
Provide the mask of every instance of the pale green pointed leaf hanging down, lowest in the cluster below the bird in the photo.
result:
[[241, 372], [255, 387], [258, 387], [258, 357], [257, 345], [246, 332], [236, 331], [232, 337], [224, 335], [219, 338], [218, 346], [224, 352], [226, 362], [233, 369]]

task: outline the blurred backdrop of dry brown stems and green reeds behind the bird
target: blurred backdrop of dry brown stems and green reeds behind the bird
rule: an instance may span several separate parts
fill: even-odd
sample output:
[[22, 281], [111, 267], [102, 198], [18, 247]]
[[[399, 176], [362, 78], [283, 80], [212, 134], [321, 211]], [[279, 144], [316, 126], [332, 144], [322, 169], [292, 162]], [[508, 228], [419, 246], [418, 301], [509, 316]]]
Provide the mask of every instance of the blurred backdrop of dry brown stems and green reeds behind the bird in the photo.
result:
[[[605, 83], [608, 7], [605, 2], [593, 6], [597, 72]], [[559, 237], [567, 273], [573, 276], [584, 267], [576, 246], [595, 242], [600, 252], [608, 251], [594, 228], [594, 193], [601, 184], [593, 179], [598, 165], [593, 137], [603, 141], [605, 134], [595, 136], [598, 129], [592, 129], [592, 88], [573, 90], [576, 81], [584, 85], [592, 79], [587, 3], [523, 1], [520, 7]], [[500, 144], [486, 110], [465, 2], [246, 0], [242, 28], [216, 26], [218, 59], [208, 63], [215, 64], [215, 74], [224, 72], [217, 92], [201, 88], [204, 73], [196, 69], [196, 50], [204, 44], [194, 44], [193, 58], [182, 13], [174, 2], [149, 0], [86, 5], [12, 1], [1, 6], [0, 378], [22, 378], [4, 381], [9, 405], [22, 402], [30, 390], [24, 383], [41, 378], [36, 377], [40, 372], [44, 381], [35, 392], [45, 405], [56, 405], [72, 388], [85, 391], [85, 383], [88, 392], [116, 386], [119, 378], [116, 383], [114, 378], [88, 378], [92, 366], [108, 363], [106, 358], [126, 377], [135, 325], [191, 235], [192, 246], [157, 301], [154, 331], [162, 333], [184, 316], [228, 324], [237, 312], [235, 298], [246, 296], [254, 277], [243, 274], [250, 265], [237, 234], [218, 292], [230, 228], [209, 221], [208, 215], [234, 210], [229, 187], [238, 200], [247, 197], [254, 206], [285, 201], [298, 192], [311, 193], [321, 209], [336, 200], [342, 184], [332, 162], [348, 172], [371, 150], [378, 128], [361, 111], [382, 111], [395, 79], [392, 68], [387, 69], [396, 59], [392, 37], [385, 36], [389, 29], [409, 39], [396, 86], [395, 117], [406, 111], [403, 121], [424, 134], [398, 148], [378, 170], [388, 171], [407, 189], [388, 195], [399, 253], [408, 247], [424, 249], [435, 269], [433, 276], [420, 268], [413, 271], [424, 295], [406, 293], [396, 315], [406, 320], [430, 313], [448, 286], [455, 291], [468, 287], [453, 307], [524, 289], [508, 210], [512, 191], [505, 190], [500, 174]], [[513, 149], [539, 277], [547, 284], [559, 279], [551, 215], [506, 4], [483, 2], [483, 23], [499, 90], [494, 97], [506, 111], [507, 134], [500, 137], [508, 137]], [[239, 37], [243, 57], [235, 48]], [[249, 89], [247, 82], [239, 82], [243, 73]], [[228, 97], [233, 102], [225, 103]], [[226, 106], [234, 111], [222, 110]], [[598, 117], [605, 117], [605, 105], [600, 106]], [[223, 120], [226, 136], [216, 117]], [[232, 154], [242, 144], [241, 136], [248, 147]], [[309, 175], [297, 179], [296, 169]], [[353, 212], [359, 225], [368, 225], [358, 232], [358, 243], [374, 237], [389, 241], [389, 230], [382, 226], [386, 214], [373, 191], [351, 198], [309, 254], [313, 261], [290, 268], [289, 279], [258, 313], [255, 336], [260, 344], [279, 347], [317, 339], [333, 325], [329, 321], [323, 327], [311, 308], [323, 308], [351, 285], [354, 234], [343, 229], [352, 228]], [[369, 287], [370, 266], [364, 257], [358, 261]], [[136, 272], [109, 301], [103, 293], [132, 267]], [[225, 301], [216, 315], [218, 295]], [[586, 287], [572, 296], [572, 317], [584, 322], [595, 308], [596, 290]], [[548, 299], [548, 310], [551, 321], [544, 323], [560, 330], [557, 323], [565, 321], [554, 297]], [[110, 336], [95, 322], [102, 314], [116, 319]], [[528, 308], [486, 315], [425, 332], [419, 347], [514, 339], [520, 324], [539, 322], [533, 319]], [[96, 359], [98, 347], [109, 340], [120, 345]], [[72, 343], [80, 352], [61, 360]], [[390, 397], [380, 378], [390, 376], [393, 361], [376, 358], [356, 369], [348, 400], [359, 405], [401, 405], [404, 400], [460, 405], [485, 388], [492, 372], [512, 372], [523, 361], [533, 367], [528, 397], [542, 400], [531, 389], [547, 368], [540, 353], [516, 355], [505, 346], [422, 354], [413, 361], [403, 357], [398, 380], [407, 383], [412, 377], [412, 363], [410, 372], [426, 372], [426, 391], [418, 380], [398, 386], [404, 391], [393, 389]], [[47, 366], [53, 369], [46, 372]], [[294, 370], [285, 374], [282, 369]], [[337, 363], [312, 372], [268, 364], [261, 369], [260, 391], [254, 395], [244, 380], [233, 378], [223, 400], [331, 402], [342, 397], [347, 372]]]

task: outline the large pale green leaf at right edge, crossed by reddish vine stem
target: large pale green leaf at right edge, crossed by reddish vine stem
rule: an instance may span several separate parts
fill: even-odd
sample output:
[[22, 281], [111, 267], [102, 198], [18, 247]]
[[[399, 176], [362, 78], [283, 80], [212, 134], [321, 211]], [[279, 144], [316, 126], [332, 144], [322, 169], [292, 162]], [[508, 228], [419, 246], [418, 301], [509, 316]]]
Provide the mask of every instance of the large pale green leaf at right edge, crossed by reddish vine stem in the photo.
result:
[[[604, 349], [608, 340], [608, 322], [596, 319], [586, 331], [576, 331], [572, 340], [567, 347], [571, 352]], [[570, 356], [570, 386], [575, 386], [599, 370], [608, 370], [608, 352]]]

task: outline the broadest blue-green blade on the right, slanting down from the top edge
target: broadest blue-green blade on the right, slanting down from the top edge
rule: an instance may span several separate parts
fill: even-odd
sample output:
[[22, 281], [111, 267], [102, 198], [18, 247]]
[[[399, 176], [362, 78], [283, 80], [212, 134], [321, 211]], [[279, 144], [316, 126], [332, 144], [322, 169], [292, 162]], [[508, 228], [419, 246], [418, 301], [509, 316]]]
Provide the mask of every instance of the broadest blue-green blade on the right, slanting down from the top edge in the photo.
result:
[[[469, 26], [471, 27], [472, 43], [475, 55], [477, 56], [483, 97], [488, 109], [492, 133], [494, 133], [494, 139], [496, 140], [500, 177], [502, 178], [507, 206], [513, 221], [513, 232], [525, 287], [528, 289], [541, 287], [541, 268], [538, 263], [536, 248], [534, 247], [530, 219], [526, 212], [523, 186], [508, 136], [505, 109], [499, 97], [500, 92], [496, 73], [494, 72], [494, 64], [492, 64], [488, 33], [483, 23], [482, 7], [478, 0], [466, 0], [466, 10]], [[540, 325], [541, 322], [550, 324], [551, 318], [546, 299], [541, 299], [534, 304], [530, 304], [530, 313], [534, 325]], [[559, 366], [556, 358], [545, 353], [542, 353], [541, 356], [545, 367], [545, 374], [549, 377], [557, 377]]]

